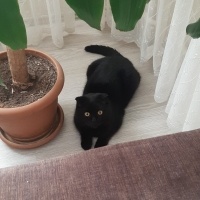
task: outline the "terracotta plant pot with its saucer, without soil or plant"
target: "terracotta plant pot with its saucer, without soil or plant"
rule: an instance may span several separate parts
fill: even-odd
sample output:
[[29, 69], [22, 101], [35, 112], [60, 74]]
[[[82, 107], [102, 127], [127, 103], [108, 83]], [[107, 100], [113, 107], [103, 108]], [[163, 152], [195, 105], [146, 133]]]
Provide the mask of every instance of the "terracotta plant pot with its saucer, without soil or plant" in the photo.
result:
[[[64, 85], [64, 73], [60, 64], [51, 56], [32, 49], [32, 54], [47, 59], [57, 71], [53, 88], [41, 99], [21, 107], [0, 108], [0, 138], [15, 148], [34, 148], [52, 140], [63, 124], [63, 111], [58, 105], [58, 95]], [[0, 53], [0, 59], [6, 57]]]

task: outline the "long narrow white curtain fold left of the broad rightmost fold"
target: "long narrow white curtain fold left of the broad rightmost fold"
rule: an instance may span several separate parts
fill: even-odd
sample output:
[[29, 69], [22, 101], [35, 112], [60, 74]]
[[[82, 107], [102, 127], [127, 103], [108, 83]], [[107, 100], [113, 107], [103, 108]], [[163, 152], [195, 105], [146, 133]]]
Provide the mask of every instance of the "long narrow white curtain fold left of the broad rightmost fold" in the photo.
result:
[[192, 5], [193, 0], [184, 3], [176, 1], [155, 90], [157, 102], [165, 102], [169, 98], [175, 83], [183, 59], [182, 51], [185, 52], [185, 40], [189, 39], [185, 30], [190, 21]]

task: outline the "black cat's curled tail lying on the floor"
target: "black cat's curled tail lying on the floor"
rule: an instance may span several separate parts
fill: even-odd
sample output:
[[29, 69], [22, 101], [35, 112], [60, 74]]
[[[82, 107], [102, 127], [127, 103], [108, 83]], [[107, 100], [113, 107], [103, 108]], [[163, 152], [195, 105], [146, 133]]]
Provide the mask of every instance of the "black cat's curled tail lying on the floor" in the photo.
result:
[[102, 45], [90, 45], [85, 47], [85, 51], [90, 53], [97, 53], [103, 56], [121, 55], [117, 50]]

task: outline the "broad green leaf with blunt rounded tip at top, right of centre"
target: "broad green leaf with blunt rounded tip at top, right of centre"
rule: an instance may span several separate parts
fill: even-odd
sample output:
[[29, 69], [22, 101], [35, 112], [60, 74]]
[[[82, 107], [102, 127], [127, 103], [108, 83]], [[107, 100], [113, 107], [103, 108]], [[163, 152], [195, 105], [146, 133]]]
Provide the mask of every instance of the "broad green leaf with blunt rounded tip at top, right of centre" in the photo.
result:
[[131, 31], [142, 17], [146, 3], [149, 0], [110, 0], [116, 29]]

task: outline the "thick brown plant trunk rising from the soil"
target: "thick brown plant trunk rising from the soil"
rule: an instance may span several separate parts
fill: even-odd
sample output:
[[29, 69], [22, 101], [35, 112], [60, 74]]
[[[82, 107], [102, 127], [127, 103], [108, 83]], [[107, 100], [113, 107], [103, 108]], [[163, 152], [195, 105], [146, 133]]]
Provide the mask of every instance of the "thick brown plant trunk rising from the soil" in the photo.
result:
[[12, 50], [7, 47], [7, 56], [13, 85], [20, 89], [27, 89], [30, 86], [30, 76], [27, 68], [25, 50]]

